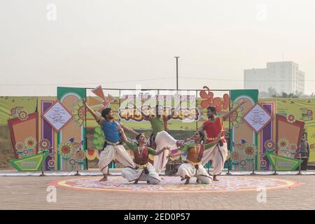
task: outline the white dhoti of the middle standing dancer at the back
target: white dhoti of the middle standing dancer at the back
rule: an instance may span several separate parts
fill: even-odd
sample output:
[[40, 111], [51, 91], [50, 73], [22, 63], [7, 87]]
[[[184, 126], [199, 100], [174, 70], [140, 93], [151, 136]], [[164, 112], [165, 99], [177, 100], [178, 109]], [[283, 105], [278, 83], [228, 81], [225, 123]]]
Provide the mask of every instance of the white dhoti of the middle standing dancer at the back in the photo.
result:
[[[155, 144], [155, 151], [160, 151], [165, 146], [169, 146], [171, 151], [177, 149], [176, 140], [165, 131], [158, 132], [158, 134], [156, 134]], [[156, 155], [154, 157], [153, 166], [158, 174], [160, 174], [162, 169], [167, 164], [167, 155], [169, 155], [169, 151], [163, 151], [160, 155]]]

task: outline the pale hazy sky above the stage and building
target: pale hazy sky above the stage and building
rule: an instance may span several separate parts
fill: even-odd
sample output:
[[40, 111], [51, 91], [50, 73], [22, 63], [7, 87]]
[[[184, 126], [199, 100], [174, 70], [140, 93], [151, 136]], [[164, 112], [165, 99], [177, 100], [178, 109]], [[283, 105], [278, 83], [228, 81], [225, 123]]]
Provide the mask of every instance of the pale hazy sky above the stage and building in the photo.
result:
[[244, 69], [284, 55], [315, 92], [313, 0], [0, 4], [0, 95], [56, 95], [57, 85], [176, 88], [174, 56], [180, 89], [241, 89]]

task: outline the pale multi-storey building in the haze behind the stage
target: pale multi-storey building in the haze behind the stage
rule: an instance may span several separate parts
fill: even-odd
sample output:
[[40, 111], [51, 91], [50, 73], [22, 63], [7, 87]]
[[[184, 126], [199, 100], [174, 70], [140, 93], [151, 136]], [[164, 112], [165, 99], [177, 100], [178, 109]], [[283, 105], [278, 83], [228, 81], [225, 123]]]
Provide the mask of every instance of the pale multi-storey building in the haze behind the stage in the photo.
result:
[[268, 92], [272, 87], [278, 93], [304, 94], [304, 76], [295, 62], [267, 62], [265, 69], [244, 70], [244, 88]]

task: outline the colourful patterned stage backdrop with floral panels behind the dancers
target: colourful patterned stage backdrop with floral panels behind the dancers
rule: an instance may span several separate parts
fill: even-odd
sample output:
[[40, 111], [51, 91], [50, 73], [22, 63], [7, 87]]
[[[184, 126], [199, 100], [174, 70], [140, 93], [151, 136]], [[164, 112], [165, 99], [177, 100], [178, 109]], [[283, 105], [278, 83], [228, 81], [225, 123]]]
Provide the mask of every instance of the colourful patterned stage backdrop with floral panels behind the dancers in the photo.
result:
[[[134, 111], [133, 104], [138, 106], [140, 102], [140, 105], [146, 106], [143, 109], [149, 112], [148, 106], [158, 102], [167, 113], [176, 109], [181, 102], [181, 113], [172, 116], [168, 122], [169, 133], [175, 139], [185, 139], [202, 125], [207, 119], [209, 104], [215, 104], [219, 113], [225, 113], [237, 106], [241, 99], [247, 99], [248, 102], [232, 115], [230, 123], [225, 123], [225, 130], [230, 130], [228, 140], [232, 169], [251, 170], [254, 161], [255, 170], [272, 170], [274, 167], [267, 153], [275, 151], [283, 158], [294, 160], [303, 130], [307, 132], [311, 150], [309, 162], [315, 162], [315, 99], [258, 99], [257, 90], [231, 90], [229, 100], [229, 92], [211, 92], [207, 87], [202, 91], [187, 92], [186, 97], [174, 97], [175, 94], [174, 91], [165, 90], [136, 92], [58, 87], [57, 97], [0, 97], [0, 126], [1, 130], [10, 132], [11, 148], [16, 159], [35, 155], [41, 148], [48, 149], [45, 169], [70, 171], [76, 170], [77, 166], [78, 169], [86, 169], [87, 160], [99, 158], [99, 149], [104, 144], [102, 130], [90, 113], [85, 113], [82, 99], [86, 95], [95, 111], [110, 106], [117, 119], [135, 130], [145, 132], [147, 136], [151, 134], [151, 124], [142, 118], [139, 111]], [[69, 116], [64, 117], [66, 122], [62, 123], [59, 132], [45, 118], [56, 109], [57, 102], [62, 106], [59, 109]], [[271, 116], [259, 132], [255, 132], [243, 119], [257, 102], [265, 111], [258, 112]], [[292, 131], [290, 136], [285, 134], [288, 128]], [[288, 146], [286, 150], [284, 144]]]

